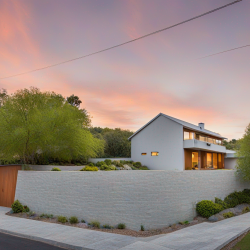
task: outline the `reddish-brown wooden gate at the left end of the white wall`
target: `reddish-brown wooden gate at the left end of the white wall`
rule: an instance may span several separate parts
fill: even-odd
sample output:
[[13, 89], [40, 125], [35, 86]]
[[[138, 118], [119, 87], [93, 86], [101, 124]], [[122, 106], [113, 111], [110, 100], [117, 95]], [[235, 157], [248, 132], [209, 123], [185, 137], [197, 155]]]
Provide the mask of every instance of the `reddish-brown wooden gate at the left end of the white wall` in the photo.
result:
[[11, 207], [15, 199], [18, 165], [0, 165], [0, 206]]

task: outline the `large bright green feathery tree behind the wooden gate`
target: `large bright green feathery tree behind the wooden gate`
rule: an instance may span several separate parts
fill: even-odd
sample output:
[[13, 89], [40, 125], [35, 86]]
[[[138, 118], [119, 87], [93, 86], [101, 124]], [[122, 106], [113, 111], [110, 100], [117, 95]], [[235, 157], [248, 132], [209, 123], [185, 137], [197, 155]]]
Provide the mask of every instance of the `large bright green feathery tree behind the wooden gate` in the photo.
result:
[[0, 159], [34, 164], [45, 156], [69, 162], [95, 157], [104, 145], [88, 123], [89, 117], [61, 95], [19, 90], [0, 109]]

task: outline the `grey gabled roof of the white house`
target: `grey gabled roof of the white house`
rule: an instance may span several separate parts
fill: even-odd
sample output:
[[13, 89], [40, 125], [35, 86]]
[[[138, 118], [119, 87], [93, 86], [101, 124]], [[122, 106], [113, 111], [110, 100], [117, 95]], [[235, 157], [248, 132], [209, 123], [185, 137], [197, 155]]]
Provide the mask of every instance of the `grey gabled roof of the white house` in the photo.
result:
[[194, 130], [194, 131], [199, 131], [199, 132], [202, 132], [203, 134], [207, 134], [207, 135], [212, 135], [212, 136], [215, 136], [217, 138], [220, 138], [220, 139], [227, 139], [225, 137], [222, 137], [220, 134], [218, 133], [215, 133], [215, 132], [212, 132], [210, 130], [207, 130], [207, 129], [200, 129], [199, 126], [196, 126], [194, 124], [191, 124], [191, 123], [188, 123], [188, 122], [185, 122], [185, 121], [182, 121], [182, 120], [179, 120], [177, 118], [174, 118], [172, 116], [168, 116], [168, 115], [165, 115], [165, 114], [158, 114], [155, 118], [153, 118], [151, 121], [149, 121], [147, 124], [145, 124], [143, 127], [141, 127], [140, 129], [138, 129], [133, 135], [131, 135], [128, 140], [131, 140], [132, 137], [134, 137], [135, 135], [137, 135], [140, 131], [142, 131], [144, 128], [146, 128], [150, 123], [152, 123], [154, 120], [156, 120], [159, 116], [164, 116], [178, 124], [181, 124], [184, 128], [188, 128], [188, 129], [191, 129], [191, 130]]

